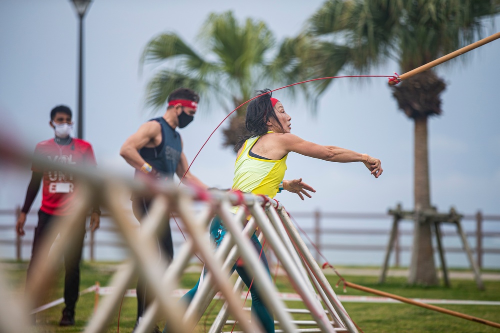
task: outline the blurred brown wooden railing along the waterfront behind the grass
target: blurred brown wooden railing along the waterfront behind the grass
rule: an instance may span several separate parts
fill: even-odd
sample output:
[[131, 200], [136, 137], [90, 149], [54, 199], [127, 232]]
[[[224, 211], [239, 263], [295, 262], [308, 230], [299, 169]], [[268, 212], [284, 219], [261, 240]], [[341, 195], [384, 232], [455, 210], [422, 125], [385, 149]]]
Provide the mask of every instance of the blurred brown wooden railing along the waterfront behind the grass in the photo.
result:
[[[28, 215], [29, 223], [25, 226], [26, 236], [19, 237], [15, 234], [15, 222], [18, 214], [18, 209], [11, 210], [0, 210], [0, 246], [5, 248], [5, 246], [12, 246], [15, 248], [15, 256], [8, 256], [5, 253], [0, 253], [0, 259], [15, 259], [15, 260], [27, 260], [29, 259], [29, 253], [27, 253], [26, 248], [31, 247], [32, 233], [34, 230], [34, 223], [36, 223], [36, 212], [31, 212]], [[130, 212], [131, 214], [131, 212]], [[376, 251], [380, 254], [380, 258], [386, 249], [386, 243], [383, 241], [377, 242], [377, 244], [361, 244], [355, 241], [355, 237], [358, 236], [378, 236], [383, 238], [389, 235], [390, 232], [390, 221], [392, 217], [385, 213], [336, 213], [336, 212], [323, 212], [323, 211], [313, 211], [313, 212], [289, 212], [292, 219], [295, 219], [297, 225], [305, 226], [302, 227], [301, 231], [306, 233], [308, 236], [304, 237], [304, 241], [309, 246], [311, 253], [314, 254], [315, 259], [320, 261], [320, 253], [324, 253], [327, 250], [344, 250], [344, 251]], [[102, 249], [104, 247], [112, 249], [124, 249], [125, 243], [118, 237], [116, 238], [116, 228], [112, 223], [106, 223], [106, 219], [109, 216], [107, 214], [102, 214], [101, 216], [101, 227], [97, 231], [100, 235], [103, 233], [109, 233], [110, 237], [97, 237], [95, 233], [90, 231], [87, 232], [87, 237], [84, 242], [84, 257], [89, 260], [99, 260], [97, 258], [96, 249]], [[10, 221], [10, 222], [8, 222]], [[33, 222], [34, 221], [34, 222]], [[107, 221], [109, 222], [109, 221]], [[366, 227], [366, 223], [370, 225], [369, 228]], [[380, 223], [382, 222], [382, 223]], [[498, 260], [496, 262], [500, 263], [500, 248], [496, 247], [484, 247], [484, 240], [489, 238], [496, 238], [500, 240], [500, 216], [499, 215], [483, 215], [481, 212], [476, 214], [464, 214], [462, 219], [465, 234], [469, 240], [469, 245], [475, 254], [475, 260], [479, 268], [483, 267], [483, 256], [485, 254], [498, 255]], [[172, 238], [174, 240], [174, 247], [180, 246], [184, 242], [184, 238], [181, 234], [182, 223], [177, 219], [178, 225], [181, 230], [176, 226], [173, 219], [170, 220], [172, 226]], [[492, 224], [492, 228], [496, 231], [485, 231], [484, 224]], [[382, 225], [377, 227], [377, 225]], [[349, 227], [346, 227], [349, 226]], [[408, 228], [400, 228], [395, 247], [394, 247], [394, 265], [400, 266], [401, 263], [401, 253], [409, 252], [411, 250], [411, 244], [402, 244], [402, 237], [411, 237], [412, 235], [412, 222], [408, 221]], [[137, 228], [139, 224], [137, 223]], [[454, 230], [445, 229], [442, 232], [445, 238], [457, 237]], [[350, 244], [342, 243], [331, 243], [325, 241], [328, 236], [344, 236], [351, 237], [354, 241]], [[101, 239], [105, 238], [105, 239]], [[116, 238], [113, 240], [113, 238]], [[310, 238], [310, 239], [309, 239]], [[314, 244], [312, 244], [314, 243]], [[407, 243], [407, 242], [406, 242]], [[498, 242], [492, 242], [498, 244]], [[445, 253], [461, 253], [463, 252], [461, 247], [445, 247]], [[2, 251], [4, 252], [4, 251]], [[85, 255], [85, 253], [88, 254]], [[381, 264], [381, 261], [380, 261]]]

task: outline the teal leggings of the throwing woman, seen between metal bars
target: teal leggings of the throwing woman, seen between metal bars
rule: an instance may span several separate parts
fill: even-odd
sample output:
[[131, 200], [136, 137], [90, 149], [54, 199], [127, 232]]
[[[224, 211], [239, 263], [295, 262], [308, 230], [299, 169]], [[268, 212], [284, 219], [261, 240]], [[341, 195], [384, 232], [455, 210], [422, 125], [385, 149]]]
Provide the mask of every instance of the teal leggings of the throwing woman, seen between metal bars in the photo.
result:
[[[210, 224], [210, 239], [216, 244], [218, 247], [220, 245], [220, 242], [224, 238], [224, 235], [226, 233], [226, 230], [224, 228], [224, 225], [222, 224], [222, 221], [218, 216], [215, 216]], [[262, 250], [262, 245], [257, 239], [257, 236], [253, 234], [250, 238], [251, 243], [253, 244], [253, 247], [255, 248], [255, 251], [257, 251], [258, 254], [260, 254], [260, 251]], [[262, 265], [267, 270], [267, 273], [269, 273], [269, 278], [270, 278], [270, 272], [269, 272], [269, 265], [267, 264], [267, 259], [265, 258], [265, 254], [262, 251], [262, 254], [260, 255], [260, 262]], [[241, 277], [241, 280], [245, 283], [246, 287], [250, 286], [252, 277], [248, 276], [246, 274], [246, 271], [244, 270], [243, 266], [238, 266], [235, 264], [231, 270], [231, 273], [236, 270], [236, 272], [239, 274]], [[203, 272], [202, 274], [204, 274]], [[196, 283], [196, 286], [192, 288], [190, 291], [188, 291], [182, 298], [180, 299], [181, 302], [184, 302], [186, 305], [188, 305], [194, 295], [196, 294], [196, 291], [198, 289], [199, 285], [199, 280]], [[274, 318], [272, 316], [272, 313], [265, 307], [265, 305], [260, 301], [259, 297], [259, 288], [258, 284], [253, 282], [250, 288], [250, 294], [251, 294], [251, 318], [257, 317], [262, 323], [262, 326], [265, 330], [265, 332], [269, 333], [274, 333]], [[163, 329], [163, 333], [167, 333], [166, 326]]]

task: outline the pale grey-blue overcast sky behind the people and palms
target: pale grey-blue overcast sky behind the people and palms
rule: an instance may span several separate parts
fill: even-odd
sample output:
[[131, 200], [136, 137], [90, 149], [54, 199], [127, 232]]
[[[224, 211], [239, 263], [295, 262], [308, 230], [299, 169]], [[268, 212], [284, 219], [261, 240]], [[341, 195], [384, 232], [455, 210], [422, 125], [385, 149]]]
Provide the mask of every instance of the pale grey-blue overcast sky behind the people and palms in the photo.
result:
[[[233, 10], [239, 19], [265, 21], [279, 41], [298, 32], [321, 3], [92, 1], [84, 22], [84, 138], [93, 145], [99, 166], [131, 176], [119, 148], [142, 122], [162, 114], [151, 114], [143, 103], [154, 67], [147, 66], [139, 75], [140, 54], [154, 35], [176, 31], [196, 45], [194, 37], [208, 13]], [[53, 136], [48, 121], [55, 105], [68, 105], [77, 119], [77, 22], [68, 0], [0, 0], [1, 122], [28, 151]], [[497, 19], [496, 29], [499, 23]], [[429, 120], [429, 161], [431, 202], [440, 210], [454, 206], [462, 213], [500, 214], [498, 54], [500, 40], [438, 68], [447, 88], [442, 94], [443, 115]], [[389, 63], [371, 74], [393, 71], [399, 68]], [[329, 163], [290, 154], [285, 178], [302, 177], [317, 193], [304, 202], [288, 193], [278, 195], [288, 210], [384, 212], [398, 202], [412, 208], [413, 123], [397, 110], [386, 82], [386, 78], [336, 79], [320, 99], [315, 117], [300, 100], [274, 94], [292, 116], [292, 133], [367, 153], [379, 158], [384, 169], [374, 179], [361, 163]], [[203, 101], [200, 104], [194, 122], [180, 130], [189, 161], [225, 116], [215, 103], [209, 110]], [[227, 188], [235, 156], [221, 147], [221, 140], [219, 129], [191, 171], [210, 186]], [[2, 168], [0, 209], [21, 205], [30, 172]], [[35, 205], [32, 209], [37, 209]]]

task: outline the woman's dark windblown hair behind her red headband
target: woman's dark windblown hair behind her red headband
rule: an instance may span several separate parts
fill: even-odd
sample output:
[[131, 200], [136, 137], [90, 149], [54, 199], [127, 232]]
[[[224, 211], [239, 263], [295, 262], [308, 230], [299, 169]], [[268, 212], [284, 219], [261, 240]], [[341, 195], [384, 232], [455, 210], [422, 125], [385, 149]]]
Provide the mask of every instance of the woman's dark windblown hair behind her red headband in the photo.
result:
[[248, 131], [248, 134], [243, 135], [239, 138], [236, 146], [234, 146], [235, 152], [237, 152], [239, 148], [243, 146], [243, 143], [249, 138], [267, 133], [267, 121], [271, 117], [274, 118], [281, 129], [283, 129], [281, 123], [276, 117], [274, 108], [272, 107], [271, 90], [267, 88], [263, 90], [257, 90], [256, 95], [258, 97], [252, 99], [246, 107], [245, 127]]

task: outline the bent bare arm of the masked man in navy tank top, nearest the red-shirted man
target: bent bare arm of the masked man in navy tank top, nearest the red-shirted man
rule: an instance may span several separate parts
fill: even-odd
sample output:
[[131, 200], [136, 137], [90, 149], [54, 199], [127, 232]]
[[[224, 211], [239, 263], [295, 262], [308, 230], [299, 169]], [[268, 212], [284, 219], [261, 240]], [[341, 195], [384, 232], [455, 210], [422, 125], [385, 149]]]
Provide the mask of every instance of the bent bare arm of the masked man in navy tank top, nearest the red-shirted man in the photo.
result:
[[154, 144], [154, 139], [160, 134], [161, 125], [156, 121], [142, 124], [137, 132], [130, 135], [120, 148], [120, 155], [125, 161], [137, 170], [140, 170], [146, 161], [140, 156], [138, 150], [149, 143]]

